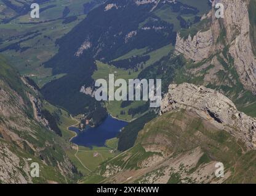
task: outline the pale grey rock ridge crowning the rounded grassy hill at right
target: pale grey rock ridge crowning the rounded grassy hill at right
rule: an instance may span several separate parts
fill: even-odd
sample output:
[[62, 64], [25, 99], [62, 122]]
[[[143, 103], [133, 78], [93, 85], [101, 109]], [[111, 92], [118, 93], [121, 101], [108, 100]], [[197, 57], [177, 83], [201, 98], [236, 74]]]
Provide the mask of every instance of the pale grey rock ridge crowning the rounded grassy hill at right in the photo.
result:
[[161, 113], [182, 108], [230, 132], [244, 141], [247, 148], [256, 149], [256, 119], [238, 111], [223, 94], [189, 83], [170, 85], [161, 102]]

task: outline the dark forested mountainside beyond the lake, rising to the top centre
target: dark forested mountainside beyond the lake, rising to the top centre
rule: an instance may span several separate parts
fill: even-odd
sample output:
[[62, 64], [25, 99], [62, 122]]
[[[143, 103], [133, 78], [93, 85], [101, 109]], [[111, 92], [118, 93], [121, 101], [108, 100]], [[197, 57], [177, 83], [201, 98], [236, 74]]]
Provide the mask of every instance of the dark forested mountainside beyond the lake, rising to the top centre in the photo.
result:
[[[165, 9], [166, 6], [169, 9]], [[180, 21], [183, 21], [180, 17], [190, 15], [188, 21], [184, 21], [188, 23], [184, 27], [188, 28], [197, 21], [199, 12], [196, 7], [179, 1], [159, 1], [158, 4], [156, 1], [106, 1], [57, 41], [60, 49], [45, 66], [52, 67], [54, 74], [67, 75], [45, 85], [42, 94], [53, 104], [74, 114], [87, 112], [84, 108], [97, 104], [89, 96], [81, 98], [84, 95], [78, 91], [81, 86], [94, 86], [91, 78], [96, 69], [92, 62], [94, 59], [136, 72], [143, 67], [142, 64], [150, 61], [148, 53], [174, 45], [176, 29], [181, 28]], [[173, 13], [174, 20], [167, 21], [162, 13]], [[145, 52], [140, 55], [135, 53], [129, 58], [118, 59], [130, 51], [144, 49]], [[80, 100], [85, 104], [81, 104]]]

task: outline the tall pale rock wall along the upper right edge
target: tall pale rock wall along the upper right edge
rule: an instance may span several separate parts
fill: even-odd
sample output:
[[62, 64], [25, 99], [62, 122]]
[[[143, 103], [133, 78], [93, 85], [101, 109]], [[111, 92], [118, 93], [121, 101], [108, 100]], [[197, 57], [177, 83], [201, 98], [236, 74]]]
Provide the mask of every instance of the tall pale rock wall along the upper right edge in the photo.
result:
[[223, 23], [230, 43], [229, 53], [243, 85], [256, 91], [256, 60], [250, 43], [249, 1], [224, 1]]

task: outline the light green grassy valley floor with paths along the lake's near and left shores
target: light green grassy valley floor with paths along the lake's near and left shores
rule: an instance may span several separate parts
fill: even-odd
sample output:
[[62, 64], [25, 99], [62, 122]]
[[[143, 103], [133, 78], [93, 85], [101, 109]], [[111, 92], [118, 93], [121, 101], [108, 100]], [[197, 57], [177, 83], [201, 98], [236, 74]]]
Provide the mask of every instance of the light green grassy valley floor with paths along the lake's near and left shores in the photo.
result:
[[[73, 137], [76, 137], [76, 133], [68, 130], [68, 128], [77, 126], [79, 124], [78, 119], [73, 118], [65, 110], [54, 107], [54, 105], [51, 105], [48, 102], [44, 102], [43, 105], [45, 109], [50, 111], [50, 113], [59, 114], [60, 120], [58, 127], [62, 130], [63, 138], [66, 141], [71, 141]], [[86, 148], [72, 143], [71, 148], [65, 149], [65, 152], [73, 164], [78, 168], [78, 171], [86, 176], [92, 171], [95, 171], [102, 162], [119, 154], [117, 148], [118, 138], [112, 138], [106, 141], [104, 147], [94, 146], [93, 148]]]

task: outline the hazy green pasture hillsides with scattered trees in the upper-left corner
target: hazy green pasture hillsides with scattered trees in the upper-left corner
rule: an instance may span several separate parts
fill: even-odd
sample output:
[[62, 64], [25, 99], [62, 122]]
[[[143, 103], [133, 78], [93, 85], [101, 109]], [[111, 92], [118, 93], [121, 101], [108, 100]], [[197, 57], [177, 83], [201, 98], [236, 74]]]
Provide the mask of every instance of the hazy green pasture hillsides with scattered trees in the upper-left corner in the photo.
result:
[[[39, 18], [30, 16], [33, 2], [39, 3]], [[0, 1], [0, 52], [21, 75], [31, 77], [41, 88], [45, 83], [65, 75], [52, 75], [51, 69], [42, 66], [58, 52], [55, 41], [86, 17], [84, 9], [91, 10], [101, 2]], [[92, 6], [87, 7], [89, 3]]]

